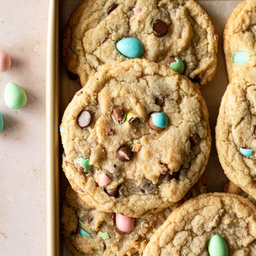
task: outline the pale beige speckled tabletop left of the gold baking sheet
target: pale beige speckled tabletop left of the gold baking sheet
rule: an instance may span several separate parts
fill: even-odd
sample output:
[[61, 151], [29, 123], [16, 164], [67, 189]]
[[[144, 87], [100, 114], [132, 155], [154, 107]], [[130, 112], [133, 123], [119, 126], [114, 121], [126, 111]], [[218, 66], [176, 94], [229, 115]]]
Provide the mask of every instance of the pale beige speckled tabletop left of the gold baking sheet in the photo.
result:
[[[1, 0], [0, 49], [12, 67], [0, 73], [0, 255], [45, 256], [45, 65], [48, 0]], [[7, 108], [7, 82], [27, 93]]]

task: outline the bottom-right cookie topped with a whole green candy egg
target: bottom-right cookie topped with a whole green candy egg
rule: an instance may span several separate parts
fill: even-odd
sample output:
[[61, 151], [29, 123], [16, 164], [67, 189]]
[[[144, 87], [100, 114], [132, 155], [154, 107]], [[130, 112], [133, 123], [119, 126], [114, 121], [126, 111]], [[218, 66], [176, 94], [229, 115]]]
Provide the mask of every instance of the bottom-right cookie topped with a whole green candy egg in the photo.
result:
[[151, 236], [143, 256], [256, 255], [256, 207], [239, 195], [209, 193], [185, 202]]

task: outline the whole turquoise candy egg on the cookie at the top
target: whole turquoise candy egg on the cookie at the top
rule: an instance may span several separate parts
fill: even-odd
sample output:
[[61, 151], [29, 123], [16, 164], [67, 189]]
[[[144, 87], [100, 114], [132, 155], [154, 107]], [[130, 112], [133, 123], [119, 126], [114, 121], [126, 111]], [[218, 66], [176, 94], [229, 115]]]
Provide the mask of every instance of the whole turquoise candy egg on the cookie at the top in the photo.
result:
[[116, 48], [121, 54], [132, 59], [139, 58], [144, 53], [141, 41], [133, 37], [118, 41]]

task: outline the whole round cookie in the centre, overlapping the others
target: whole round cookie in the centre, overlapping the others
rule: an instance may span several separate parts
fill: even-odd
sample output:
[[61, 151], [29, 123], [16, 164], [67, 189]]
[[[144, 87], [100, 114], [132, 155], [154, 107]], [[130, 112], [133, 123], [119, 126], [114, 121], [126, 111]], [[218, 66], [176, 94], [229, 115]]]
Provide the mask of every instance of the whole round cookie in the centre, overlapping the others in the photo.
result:
[[140, 59], [108, 66], [64, 113], [64, 172], [101, 211], [130, 217], [159, 211], [202, 175], [208, 118], [198, 88], [172, 69]]

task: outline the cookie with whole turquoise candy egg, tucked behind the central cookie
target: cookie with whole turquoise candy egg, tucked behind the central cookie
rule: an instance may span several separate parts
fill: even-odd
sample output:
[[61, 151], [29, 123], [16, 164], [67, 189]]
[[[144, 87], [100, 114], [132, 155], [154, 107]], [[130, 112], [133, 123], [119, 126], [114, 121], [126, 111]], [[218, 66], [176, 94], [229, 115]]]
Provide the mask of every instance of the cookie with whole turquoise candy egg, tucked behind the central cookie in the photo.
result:
[[102, 65], [143, 58], [200, 85], [216, 73], [217, 35], [194, 0], [84, 0], [63, 35], [68, 70], [84, 86]]

